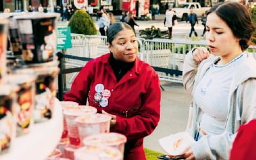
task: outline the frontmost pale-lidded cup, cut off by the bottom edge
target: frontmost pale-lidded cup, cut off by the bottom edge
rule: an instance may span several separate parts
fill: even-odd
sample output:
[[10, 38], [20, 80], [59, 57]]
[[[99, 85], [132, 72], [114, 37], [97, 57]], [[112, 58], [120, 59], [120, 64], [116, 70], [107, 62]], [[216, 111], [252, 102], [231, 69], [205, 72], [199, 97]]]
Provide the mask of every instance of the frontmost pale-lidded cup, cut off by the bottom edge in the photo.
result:
[[82, 147], [76, 150], [76, 160], [122, 160], [123, 154], [113, 147]]

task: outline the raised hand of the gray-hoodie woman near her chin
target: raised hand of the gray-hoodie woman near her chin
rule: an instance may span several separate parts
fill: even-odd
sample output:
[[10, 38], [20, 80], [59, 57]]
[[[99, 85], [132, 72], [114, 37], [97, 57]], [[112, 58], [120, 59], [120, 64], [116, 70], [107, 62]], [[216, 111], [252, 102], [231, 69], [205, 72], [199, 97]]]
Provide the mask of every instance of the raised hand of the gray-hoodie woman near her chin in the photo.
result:
[[193, 52], [193, 59], [199, 64], [201, 61], [209, 58], [210, 53], [205, 47], [198, 47]]

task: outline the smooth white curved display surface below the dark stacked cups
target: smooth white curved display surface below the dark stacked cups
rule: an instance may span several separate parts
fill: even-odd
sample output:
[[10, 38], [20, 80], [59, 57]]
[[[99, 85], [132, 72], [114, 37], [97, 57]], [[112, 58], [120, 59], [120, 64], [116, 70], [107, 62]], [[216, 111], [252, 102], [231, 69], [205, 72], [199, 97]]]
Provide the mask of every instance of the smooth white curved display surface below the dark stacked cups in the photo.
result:
[[51, 120], [34, 124], [31, 131], [12, 143], [7, 154], [1, 160], [45, 160], [60, 141], [63, 131], [63, 114], [58, 99], [54, 100], [54, 115]]

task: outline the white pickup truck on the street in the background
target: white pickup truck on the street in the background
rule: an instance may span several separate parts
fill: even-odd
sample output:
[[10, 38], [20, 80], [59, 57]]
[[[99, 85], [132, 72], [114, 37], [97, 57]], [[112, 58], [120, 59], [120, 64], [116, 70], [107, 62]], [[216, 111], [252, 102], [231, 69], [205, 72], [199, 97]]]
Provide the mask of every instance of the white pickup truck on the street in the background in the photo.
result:
[[210, 7], [201, 7], [200, 3], [184, 3], [177, 8], [173, 8], [173, 11], [175, 11], [178, 19], [186, 20], [192, 8], [194, 8], [198, 17], [202, 17], [203, 13], [210, 10]]

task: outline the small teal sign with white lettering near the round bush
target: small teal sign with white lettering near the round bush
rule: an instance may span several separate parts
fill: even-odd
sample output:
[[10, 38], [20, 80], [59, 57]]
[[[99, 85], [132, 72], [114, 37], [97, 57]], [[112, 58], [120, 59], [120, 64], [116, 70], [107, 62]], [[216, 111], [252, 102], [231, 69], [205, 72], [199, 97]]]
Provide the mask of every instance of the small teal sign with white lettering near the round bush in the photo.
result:
[[71, 44], [71, 32], [70, 27], [57, 29], [57, 49], [70, 49]]

